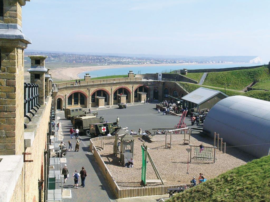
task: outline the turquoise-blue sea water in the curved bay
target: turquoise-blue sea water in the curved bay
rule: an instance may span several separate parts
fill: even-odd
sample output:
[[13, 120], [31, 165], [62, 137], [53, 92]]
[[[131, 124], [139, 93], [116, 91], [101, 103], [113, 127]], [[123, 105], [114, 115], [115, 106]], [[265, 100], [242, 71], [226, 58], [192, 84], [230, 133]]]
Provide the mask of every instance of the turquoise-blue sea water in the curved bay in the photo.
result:
[[251, 67], [262, 64], [254, 63], [214, 63], [214, 64], [181, 64], [181, 65], [156, 65], [156, 66], [141, 66], [141, 67], [123, 67], [120, 68], [110, 68], [110, 69], [100, 69], [86, 71], [78, 74], [79, 78], [84, 78], [86, 73], [90, 74], [92, 78], [99, 76], [111, 76], [111, 75], [124, 75], [132, 70], [134, 74], [146, 74], [146, 73], [165, 73], [171, 72], [176, 69], [219, 69], [219, 68], [229, 68], [229, 67]]

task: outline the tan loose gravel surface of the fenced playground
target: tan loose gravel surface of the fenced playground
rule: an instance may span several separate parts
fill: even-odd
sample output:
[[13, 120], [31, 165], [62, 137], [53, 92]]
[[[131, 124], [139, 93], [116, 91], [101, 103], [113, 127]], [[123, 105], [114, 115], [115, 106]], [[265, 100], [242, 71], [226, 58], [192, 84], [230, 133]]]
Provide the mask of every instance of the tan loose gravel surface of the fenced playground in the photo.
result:
[[[213, 139], [200, 134], [192, 134], [191, 144], [204, 146], [211, 145]], [[120, 188], [141, 187], [141, 145], [145, 143], [149, 149], [149, 153], [157, 166], [157, 169], [165, 180], [166, 185], [189, 184], [193, 176], [196, 180], [199, 173], [202, 172], [206, 179], [214, 178], [221, 173], [232, 168], [243, 165], [254, 159], [253, 156], [245, 154], [235, 148], [226, 149], [227, 154], [220, 151], [216, 153], [216, 162], [207, 162], [200, 160], [192, 160], [189, 163], [189, 174], [187, 174], [187, 159], [188, 153], [185, 150], [190, 148], [188, 145], [183, 145], [183, 134], [174, 135], [172, 149], [165, 149], [164, 141], [145, 142], [141, 138], [134, 141], [134, 168], [125, 168], [119, 163], [118, 157], [113, 155], [113, 141], [105, 140], [105, 148], [100, 151], [100, 155], [112, 173], [114, 179]], [[210, 143], [210, 144], [209, 144]], [[101, 141], [94, 142], [94, 145], [101, 146]], [[150, 161], [147, 163], [146, 179], [157, 179]], [[160, 185], [160, 183], [151, 184], [150, 186]]]

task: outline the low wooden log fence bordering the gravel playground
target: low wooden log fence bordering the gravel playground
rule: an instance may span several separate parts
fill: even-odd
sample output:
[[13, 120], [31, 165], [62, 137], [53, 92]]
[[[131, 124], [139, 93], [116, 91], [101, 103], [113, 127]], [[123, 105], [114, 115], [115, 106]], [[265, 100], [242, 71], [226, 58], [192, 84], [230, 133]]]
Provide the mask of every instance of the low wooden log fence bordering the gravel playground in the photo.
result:
[[[133, 137], [139, 138], [142, 135], [132, 135]], [[139, 197], [139, 196], [154, 196], [154, 195], [164, 195], [166, 194], [167, 189], [176, 188], [176, 187], [184, 187], [183, 185], [160, 185], [160, 186], [149, 186], [149, 187], [134, 187], [129, 189], [120, 189], [117, 185], [116, 181], [113, 179], [112, 174], [108, 170], [106, 164], [102, 160], [99, 152], [96, 147], [93, 146], [94, 141], [98, 140], [114, 140], [114, 136], [103, 136], [103, 137], [95, 137], [90, 139], [90, 151], [93, 153], [98, 165], [100, 166], [104, 176], [107, 178], [113, 193], [117, 198], [130, 198], [130, 197]], [[92, 150], [91, 150], [92, 148]], [[189, 184], [186, 185], [188, 188]]]

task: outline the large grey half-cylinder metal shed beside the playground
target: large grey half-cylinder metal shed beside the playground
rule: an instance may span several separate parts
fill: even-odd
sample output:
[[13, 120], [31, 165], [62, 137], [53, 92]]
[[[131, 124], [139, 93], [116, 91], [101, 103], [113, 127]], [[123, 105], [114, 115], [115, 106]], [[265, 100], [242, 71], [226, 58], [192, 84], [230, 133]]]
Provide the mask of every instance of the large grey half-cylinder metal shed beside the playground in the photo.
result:
[[[220, 100], [207, 114], [203, 129], [257, 158], [270, 152], [270, 102], [245, 96]], [[261, 144], [261, 145], [254, 145]]]

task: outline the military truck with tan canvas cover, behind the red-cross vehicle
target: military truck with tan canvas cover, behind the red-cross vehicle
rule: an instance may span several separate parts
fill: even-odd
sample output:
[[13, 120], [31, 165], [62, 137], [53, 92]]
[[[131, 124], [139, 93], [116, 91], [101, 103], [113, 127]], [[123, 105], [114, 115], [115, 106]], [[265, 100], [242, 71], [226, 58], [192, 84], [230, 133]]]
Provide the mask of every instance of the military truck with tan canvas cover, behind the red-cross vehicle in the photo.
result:
[[73, 126], [78, 128], [80, 133], [84, 133], [85, 135], [90, 135], [89, 126], [90, 124], [104, 122], [103, 117], [96, 117], [96, 116], [83, 116], [83, 117], [76, 117], [74, 118]]

